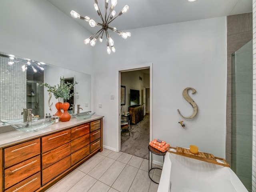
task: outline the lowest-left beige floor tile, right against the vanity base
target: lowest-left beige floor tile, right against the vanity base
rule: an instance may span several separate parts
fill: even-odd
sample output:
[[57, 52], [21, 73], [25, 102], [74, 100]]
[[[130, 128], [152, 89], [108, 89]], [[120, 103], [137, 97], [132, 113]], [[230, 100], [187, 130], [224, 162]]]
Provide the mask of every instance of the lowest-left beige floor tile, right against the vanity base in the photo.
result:
[[76, 184], [85, 175], [86, 174], [84, 174], [79, 170], [74, 170], [46, 191], [47, 192], [56, 192], [56, 191], [66, 192], [70, 188], [72, 188], [72, 186], [74, 186], [74, 184]]

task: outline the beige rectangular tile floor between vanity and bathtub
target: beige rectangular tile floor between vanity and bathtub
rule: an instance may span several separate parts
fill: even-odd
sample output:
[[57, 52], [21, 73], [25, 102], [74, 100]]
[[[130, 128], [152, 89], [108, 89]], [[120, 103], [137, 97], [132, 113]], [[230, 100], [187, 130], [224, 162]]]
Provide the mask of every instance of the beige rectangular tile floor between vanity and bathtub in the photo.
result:
[[[161, 170], [150, 174], [159, 182]], [[46, 192], [156, 192], [157, 188], [148, 177], [147, 159], [103, 149]]]

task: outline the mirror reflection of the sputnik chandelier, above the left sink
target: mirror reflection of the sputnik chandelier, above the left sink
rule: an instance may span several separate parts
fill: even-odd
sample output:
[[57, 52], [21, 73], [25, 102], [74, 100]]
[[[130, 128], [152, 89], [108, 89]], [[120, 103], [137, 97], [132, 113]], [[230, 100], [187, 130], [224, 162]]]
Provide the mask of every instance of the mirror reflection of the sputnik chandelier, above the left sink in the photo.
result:
[[28, 66], [30, 66], [35, 73], [37, 72], [36, 68], [42, 71], [44, 70], [44, 68], [41, 66], [41, 64], [45, 64], [43, 62], [36, 62], [31, 59], [19, 59], [19, 58], [15, 58], [14, 56], [10, 56], [9, 59], [11, 60], [8, 62], [9, 65], [21, 62], [23, 64], [21, 67], [23, 72], [25, 72], [28, 69]]

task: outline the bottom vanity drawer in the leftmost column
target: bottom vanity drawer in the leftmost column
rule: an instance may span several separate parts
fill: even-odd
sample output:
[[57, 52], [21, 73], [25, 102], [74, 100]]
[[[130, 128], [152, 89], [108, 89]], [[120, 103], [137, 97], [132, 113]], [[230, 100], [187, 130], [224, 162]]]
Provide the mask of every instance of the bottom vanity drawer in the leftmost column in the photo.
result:
[[25, 179], [22, 182], [4, 190], [4, 192], [24, 192], [24, 191], [35, 191], [41, 186], [41, 174], [38, 172], [33, 176]]

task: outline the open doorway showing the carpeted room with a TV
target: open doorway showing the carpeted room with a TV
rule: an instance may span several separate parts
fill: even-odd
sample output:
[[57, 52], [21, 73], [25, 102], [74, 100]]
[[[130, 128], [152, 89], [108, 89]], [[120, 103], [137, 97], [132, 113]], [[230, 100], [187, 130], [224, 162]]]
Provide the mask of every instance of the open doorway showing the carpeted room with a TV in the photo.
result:
[[121, 120], [123, 113], [135, 113], [131, 108], [142, 108], [142, 112], [140, 112], [142, 118], [136, 121], [130, 119], [130, 136], [128, 131], [120, 130], [119, 123], [119, 150], [141, 158], [148, 158], [148, 143], [152, 139], [152, 113], [150, 113], [152, 108], [152, 94], [150, 94], [152, 92], [152, 64], [144, 68], [119, 71], [119, 82], [119, 90], [121, 87], [122, 90], [125, 88], [125, 99], [120, 98], [123, 91], [119, 91], [119, 119]]

